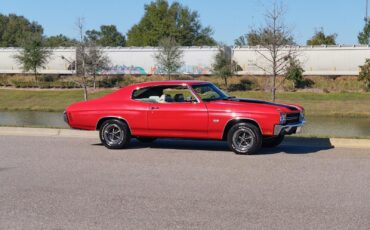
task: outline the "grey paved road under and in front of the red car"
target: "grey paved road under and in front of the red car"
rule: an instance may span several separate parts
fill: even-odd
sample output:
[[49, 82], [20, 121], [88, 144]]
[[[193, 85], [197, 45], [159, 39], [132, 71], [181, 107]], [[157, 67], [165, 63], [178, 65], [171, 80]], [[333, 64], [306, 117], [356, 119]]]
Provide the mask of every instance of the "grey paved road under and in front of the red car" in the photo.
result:
[[0, 229], [369, 228], [369, 149], [0, 136]]

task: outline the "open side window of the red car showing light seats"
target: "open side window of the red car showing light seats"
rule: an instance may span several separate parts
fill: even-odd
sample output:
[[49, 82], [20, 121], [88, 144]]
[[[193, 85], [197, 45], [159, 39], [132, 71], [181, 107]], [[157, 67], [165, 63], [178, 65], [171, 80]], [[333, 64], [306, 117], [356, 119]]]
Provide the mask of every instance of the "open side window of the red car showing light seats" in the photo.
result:
[[196, 101], [186, 86], [167, 85], [134, 90], [132, 99], [150, 103], [186, 103]]

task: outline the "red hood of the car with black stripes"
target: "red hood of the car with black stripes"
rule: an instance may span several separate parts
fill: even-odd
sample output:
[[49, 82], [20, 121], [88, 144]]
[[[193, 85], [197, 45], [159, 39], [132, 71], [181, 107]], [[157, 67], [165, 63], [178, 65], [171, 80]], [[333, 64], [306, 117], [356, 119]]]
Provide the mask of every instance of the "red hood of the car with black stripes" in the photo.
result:
[[[273, 103], [263, 100], [249, 98], [229, 98], [227, 100], [212, 101], [214, 105], [230, 106], [234, 110], [262, 110], [262, 111], [279, 111], [284, 113], [299, 112], [303, 107], [292, 104]], [[249, 105], [249, 106], [248, 106]], [[248, 107], [246, 107], [248, 106]]]

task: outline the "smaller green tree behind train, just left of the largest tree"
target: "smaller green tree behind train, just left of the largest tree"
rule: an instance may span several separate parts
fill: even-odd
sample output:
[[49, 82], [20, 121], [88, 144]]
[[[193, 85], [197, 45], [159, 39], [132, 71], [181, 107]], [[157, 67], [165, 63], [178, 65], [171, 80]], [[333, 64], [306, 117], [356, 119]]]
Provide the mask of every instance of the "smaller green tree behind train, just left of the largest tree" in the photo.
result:
[[102, 25], [100, 31], [88, 30], [86, 37], [98, 46], [123, 47], [126, 45], [125, 36], [117, 30], [115, 25]]

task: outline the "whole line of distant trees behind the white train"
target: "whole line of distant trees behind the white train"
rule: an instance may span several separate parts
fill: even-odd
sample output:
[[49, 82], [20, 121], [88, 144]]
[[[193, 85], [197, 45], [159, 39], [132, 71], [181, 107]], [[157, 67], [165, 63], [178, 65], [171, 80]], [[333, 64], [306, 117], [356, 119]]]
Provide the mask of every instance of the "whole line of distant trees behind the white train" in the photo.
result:
[[[127, 34], [120, 32], [116, 25], [101, 25], [98, 30], [85, 31], [84, 39], [105, 47], [158, 46], [159, 41], [166, 37], [174, 38], [182, 46], [217, 45], [213, 38], [213, 29], [203, 26], [199, 13], [187, 6], [176, 1], [170, 4], [167, 0], [155, 0], [145, 4], [144, 9], [141, 20]], [[42, 25], [15, 14], [0, 14], [0, 25], [0, 47], [22, 47], [30, 36], [43, 38], [43, 45], [46, 47], [69, 47], [77, 42], [63, 34], [45, 36]], [[259, 45], [256, 32], [253, 29], [246, 32], [235, 39], [234, 45]], [[336, 37], [336, 33], [326, 35], [324, 29], [320, 28], [307, 40], [306, 45], [336, 45]], [[293, 37], [290, 39], [291, 44], [296, 44]], [[359, 32], [358, 42], [369, 44], [370, 21]]]

